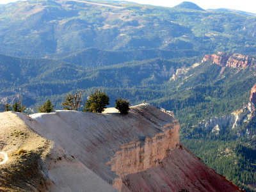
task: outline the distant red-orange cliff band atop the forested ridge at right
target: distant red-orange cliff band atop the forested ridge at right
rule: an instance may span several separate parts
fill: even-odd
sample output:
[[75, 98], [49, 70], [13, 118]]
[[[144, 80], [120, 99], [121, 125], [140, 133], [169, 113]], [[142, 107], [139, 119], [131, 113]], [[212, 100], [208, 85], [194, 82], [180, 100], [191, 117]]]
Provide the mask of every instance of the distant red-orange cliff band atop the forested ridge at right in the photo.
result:
[[208, 54], [204, 56], [204, 61], [213, 61], [221, 67], [233, 67], [233, 68], [242, 68], [242, 67], [255, 67], [256, 61], [250, 56], [244, 56], [242, 54], [229, 54], [225, 52], [218, 52], [217, 54]]

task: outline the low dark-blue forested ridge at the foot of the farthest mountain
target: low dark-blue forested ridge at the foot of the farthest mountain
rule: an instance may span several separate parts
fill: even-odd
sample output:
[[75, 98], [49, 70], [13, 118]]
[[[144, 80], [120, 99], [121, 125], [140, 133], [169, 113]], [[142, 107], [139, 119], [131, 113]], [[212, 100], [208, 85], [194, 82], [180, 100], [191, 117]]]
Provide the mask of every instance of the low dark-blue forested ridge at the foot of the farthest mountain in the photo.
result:
[[161, 49], [138, 50], [138, 51], [106, 51], [102, 49], [88, 48], [78, 52], [53, 54], [49, 56], [54, 60], [66, 61], [83, 67], [106, 67], [129, 61], [143, 61], [161, 58], [170, 60], [174, 58], [194, 57], [205, 52], [184, 50], [166, 51]]

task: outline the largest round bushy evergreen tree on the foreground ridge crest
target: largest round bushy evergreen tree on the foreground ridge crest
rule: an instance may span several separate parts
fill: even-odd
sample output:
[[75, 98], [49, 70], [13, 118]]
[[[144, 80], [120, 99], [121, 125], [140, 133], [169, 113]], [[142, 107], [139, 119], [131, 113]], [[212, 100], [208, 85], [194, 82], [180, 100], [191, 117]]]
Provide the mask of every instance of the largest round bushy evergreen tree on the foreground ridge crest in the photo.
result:
[[97, 90], [86, 101], [83, 111], [102, 113], [106, 106], [109, 105], [109, 97], [106, 93]]

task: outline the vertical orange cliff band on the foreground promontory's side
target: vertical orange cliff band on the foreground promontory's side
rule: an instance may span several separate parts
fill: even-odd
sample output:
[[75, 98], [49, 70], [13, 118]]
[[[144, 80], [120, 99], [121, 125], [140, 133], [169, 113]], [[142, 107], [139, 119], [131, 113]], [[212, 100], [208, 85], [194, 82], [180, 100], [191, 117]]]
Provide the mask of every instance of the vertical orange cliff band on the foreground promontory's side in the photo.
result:
[[116, 175], [124, 176], [145, 171], [162, 163], [167, 153], [179, 145], [179, 124], [166, 124], [164, 132], [153, 138], [141, 138], [120, 147], [109, 161]]

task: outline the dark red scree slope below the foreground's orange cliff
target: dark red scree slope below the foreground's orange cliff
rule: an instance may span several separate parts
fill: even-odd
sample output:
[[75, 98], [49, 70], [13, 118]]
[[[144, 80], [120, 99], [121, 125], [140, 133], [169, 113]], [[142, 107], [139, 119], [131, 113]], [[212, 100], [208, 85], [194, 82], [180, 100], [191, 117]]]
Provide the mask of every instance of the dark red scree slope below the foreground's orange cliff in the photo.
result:
[[179, 145], [159, 166], [115, 179], [119, 191], [241, 191]]

